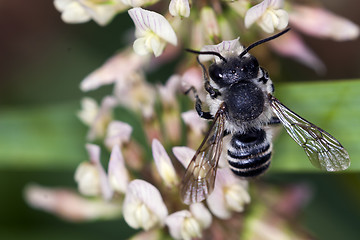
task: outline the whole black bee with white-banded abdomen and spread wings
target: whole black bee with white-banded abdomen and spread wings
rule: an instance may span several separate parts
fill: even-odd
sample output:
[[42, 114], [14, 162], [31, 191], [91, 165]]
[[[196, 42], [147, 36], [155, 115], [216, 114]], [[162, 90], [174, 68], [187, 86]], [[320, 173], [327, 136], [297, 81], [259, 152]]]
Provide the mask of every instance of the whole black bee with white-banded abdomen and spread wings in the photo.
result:
[[[268, 72], [248, 52], [255, 46], [285, 34], [262, 39], [242, 48], [242, 52], [224, 57], [218, 51], [187, 51], [198, 54], [209, 111], [195, 93], [195, 109], [199, 116], [213, 122], [190, 161], [181, 184], [184, 203], [204, 200], [214, 188], [219, 159], [225, 149], [228, 165], [239, 177], [263, 174], [272, 154], [271, 126], [281, 123], [300, 145], [311, 163], [327, 171], [344, 170], [350, 165], [345, 148], [329, 133], [300, 117], [273, 96], [274, 85]], [[241, 50], [240, 50], [241, 51]], [[219, 61], [207, 69], [199, 55], [214, 55]], [[210, 76], [210, 78], [209, 78]], [[189, 91], [190, 91], [189, 90]], [[228, 139], [224, 141], [225, 137]], [[224, 146], [223, 146], [224, 145]]]

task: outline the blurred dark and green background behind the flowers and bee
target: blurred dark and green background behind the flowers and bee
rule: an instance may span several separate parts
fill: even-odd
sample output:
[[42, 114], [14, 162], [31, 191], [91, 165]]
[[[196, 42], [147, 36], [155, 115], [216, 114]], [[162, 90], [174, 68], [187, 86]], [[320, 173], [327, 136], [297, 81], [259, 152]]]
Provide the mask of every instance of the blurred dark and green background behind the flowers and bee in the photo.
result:
[[[357, 1], [323, 4], [360, 23]], [[71, 224], [29, 208], [22, 196], [29, 182], [76, 187], [74, 170], [87, 159], [87, 129], [75, 116], [84, 96], [79, 83], [130, 41], [130, 18], [124, 13], [107, 27], [93, 22], [68, 25], [61, 21], [52, 1], [14, 0], [0, 1], [0, 19], [0, 238], [131, 236], [134, 231], [122, 220]], [[300, 64], [283, 61], [280, 70], [286, 83], [274, 81], [277, 97], [333, 133], [348, 148], [352, 166], [342, 174], [314, 170], [301, 148], [288, 144], [290, 138], [283, 131], [276, 142], [272, 169], [264, 181], [277, 185], [306, 183], [311, 187], [314, 195], [301, 213], [300, 222], [319, 239], [359, 239], [359, 40], [337, 43], [306, 36], [304, 39], [328, 71], [319, 77]], [[154, 81], [164, 81], [168, 73], [156, 76]], [[315, 79], [324, 81], [310, 82]], [[331, 81], [335, 79], [358, 80]], [[104, 87], [87, 95], [99, 99], [108, 92], [110, 88]], [[289, 156], [295, 160], [287, 162]]]

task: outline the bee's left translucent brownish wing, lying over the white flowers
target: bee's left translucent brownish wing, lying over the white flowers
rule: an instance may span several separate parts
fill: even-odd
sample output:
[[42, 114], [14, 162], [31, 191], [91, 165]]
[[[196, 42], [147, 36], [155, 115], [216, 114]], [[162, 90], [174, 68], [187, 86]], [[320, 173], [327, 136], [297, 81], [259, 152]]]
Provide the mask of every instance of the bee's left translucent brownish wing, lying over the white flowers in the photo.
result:
[[201, 202], [214, 189], [216, 169], [222, 152], [224, 124], [225, 112], [222, 105], [182, 179], [180, 192], [186, 204]]

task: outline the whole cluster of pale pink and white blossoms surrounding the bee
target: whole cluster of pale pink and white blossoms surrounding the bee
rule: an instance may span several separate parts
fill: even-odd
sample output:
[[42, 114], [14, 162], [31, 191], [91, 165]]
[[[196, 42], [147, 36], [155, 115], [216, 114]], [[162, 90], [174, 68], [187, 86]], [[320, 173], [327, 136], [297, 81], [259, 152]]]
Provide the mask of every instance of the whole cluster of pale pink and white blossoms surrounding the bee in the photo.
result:
[[[135, 32], [129, 47], [80, 84], [84, 92], [114, 85], [113, 93], [101, 103], [89, 97], [81, 102], [78, 117], [89, 127], [87, 140], [91, 143], [86, 144], [89, 161], [75, 172], [80, 195], [31, 185], [26, 196], [32, 206], [73, 221], [123, 216], [132, 228], [153, 234], [166, 234], [167, 229], [175, 239], [219, 233], [230, 238], [233, 231], [238, 236], [243, 220], [239, 213], [250, 203], [250, 194], [248, 182], [232, 175], [226, 163], [220, 162], [214, 192], [206, 203], [185, 206], [179, 196], [181, 173], [208, 127], [191, 110], [193, 103], [183, 97], [190, 87], [201, 99], [205, 97], [201, 69], [194, 59], [187, 59], [177, 73], [162, 81], [165, 84], [150, 84], [147, 70], [179, 58], [183, 46], [240, 51], [239, 36], [258, 40], [290, 25], [294, 29], [291, 33], [269, 45], [279, 54], [320, 71], [321, 60], [298, 32], [342, 41], [358, 37], [359, 27], [325, 9], [282, 0], [209, 2], [211, 5], [187, 0], [171, 0], [170, 4], [156, 0], [54, 0], [66, 23], [92, 19], [104, 26], [127, 10]], [[166, 12], [161, 14], [157, 9]], [[234, 40], [225, 41], [230, 39]], [[210, 60], [207, 57], [200, 60]], [[101, 150], [110, 155], [107, 170], [101, 164]], [[41, 197], [44, 195], [48, 197]], [[71, 212], [67, 204], [72, 204]], [[224, 221], [235, 226], [233, 231], [221, 230], [226, 226]], [[253, 223], [265, 226], [261, 221]]]

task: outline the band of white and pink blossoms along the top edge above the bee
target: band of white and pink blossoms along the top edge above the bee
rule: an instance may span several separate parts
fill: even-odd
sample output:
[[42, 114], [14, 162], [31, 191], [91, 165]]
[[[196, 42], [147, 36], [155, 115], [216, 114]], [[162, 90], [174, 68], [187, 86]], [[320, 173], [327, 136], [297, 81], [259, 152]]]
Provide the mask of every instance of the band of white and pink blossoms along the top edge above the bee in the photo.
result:
[[[153, 53], [160, 56], [168, 44], [200, 48], [205, 44], [235, 39], [244, 33], [256, 37], [252, 40], [258, 40], [262, 32], [273, 33], [290, 26], [293, 30], [282, 37], [281, 42], [275, 41], [270, 46], [277, 53], [321, 72], [323, 63], [306, 46], [298, 32], [336, 41], [359, 36], [359, 27], [346, 18], [318, 6], [284, 0], [219, 0], [212, 1], [211, 5], [201, 1], [171, 0], [168, 12], [162, 14], [144, 8], [164, 9], [162, 5], [165, 3], [156, 0], [54, 0], [54, 4], [67, 23], [93, 19], [101, 26], [128, 9], [135, 24], [133, 48], [140, 55]], [[173, 52], [176, 51], [173, 49]]]

